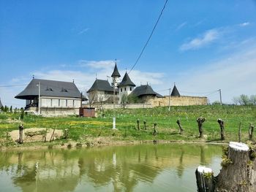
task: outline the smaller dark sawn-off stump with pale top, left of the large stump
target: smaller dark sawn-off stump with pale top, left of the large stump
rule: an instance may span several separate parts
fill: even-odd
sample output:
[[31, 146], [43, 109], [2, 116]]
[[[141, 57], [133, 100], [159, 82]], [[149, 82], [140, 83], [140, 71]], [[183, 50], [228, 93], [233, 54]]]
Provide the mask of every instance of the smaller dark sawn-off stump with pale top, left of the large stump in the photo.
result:
[[198, 166], [195, 170], [198, 192], [214, 192], [214, 173], [206, 166]]

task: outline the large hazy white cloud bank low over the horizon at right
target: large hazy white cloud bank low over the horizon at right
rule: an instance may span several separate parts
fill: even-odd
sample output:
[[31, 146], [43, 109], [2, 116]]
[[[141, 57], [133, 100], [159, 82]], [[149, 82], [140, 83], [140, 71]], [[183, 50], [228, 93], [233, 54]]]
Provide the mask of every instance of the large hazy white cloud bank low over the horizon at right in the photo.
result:
[[[188, 92], [217, 91], [220, 88], [222, 101], [226, 103], [231, 103], [233, 96], [255, 94], [256, 42], [249, 41], [246, 49], [241, 50], [208, 66], [187, 71], [187, 75], [178, 78], [178, 88]], [[208, 97], [211, 101], [219, 100], [217, 92]]]

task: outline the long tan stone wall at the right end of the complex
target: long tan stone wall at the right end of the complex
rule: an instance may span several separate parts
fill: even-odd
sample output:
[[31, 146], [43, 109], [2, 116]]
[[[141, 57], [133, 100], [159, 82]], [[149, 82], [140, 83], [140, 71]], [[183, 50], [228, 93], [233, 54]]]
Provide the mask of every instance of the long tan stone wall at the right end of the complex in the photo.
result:
[[[153, 107], [169, 106], [169, 96], [163, 98], [149, 99], [148, 103]], [[201, 96], [171, 96], [170, 106], [206, 105], [207, 97]]]

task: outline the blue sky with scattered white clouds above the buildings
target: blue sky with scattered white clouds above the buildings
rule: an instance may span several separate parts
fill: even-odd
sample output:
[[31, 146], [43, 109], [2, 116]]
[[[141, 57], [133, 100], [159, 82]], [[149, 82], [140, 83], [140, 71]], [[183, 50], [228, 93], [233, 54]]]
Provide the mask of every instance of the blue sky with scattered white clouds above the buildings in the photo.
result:
[[[165, 0], [0, 0], [0, 86], [27, 84], [32, 75], [75, 80], [86, 92], [107, 79], [117, 59], [123, 75], [135, 64]], [[140, 61], [129, 76], [167, 95], [232, 102], [256, 94], [256, 1], [168, 1]], [[25, 86], [0, 87], [3, 104]]]

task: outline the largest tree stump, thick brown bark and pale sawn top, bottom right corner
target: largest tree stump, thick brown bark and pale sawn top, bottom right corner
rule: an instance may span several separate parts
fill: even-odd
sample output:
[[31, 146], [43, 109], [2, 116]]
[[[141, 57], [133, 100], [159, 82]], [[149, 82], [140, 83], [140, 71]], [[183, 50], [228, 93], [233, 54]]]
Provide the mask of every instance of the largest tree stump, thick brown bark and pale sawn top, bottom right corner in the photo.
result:
[[251, 161], [249, 147], [240, 142], [230, 142], [227, 159], [222, 160], [217, 188], [227, 191], [255, 192], [255, 162]]

